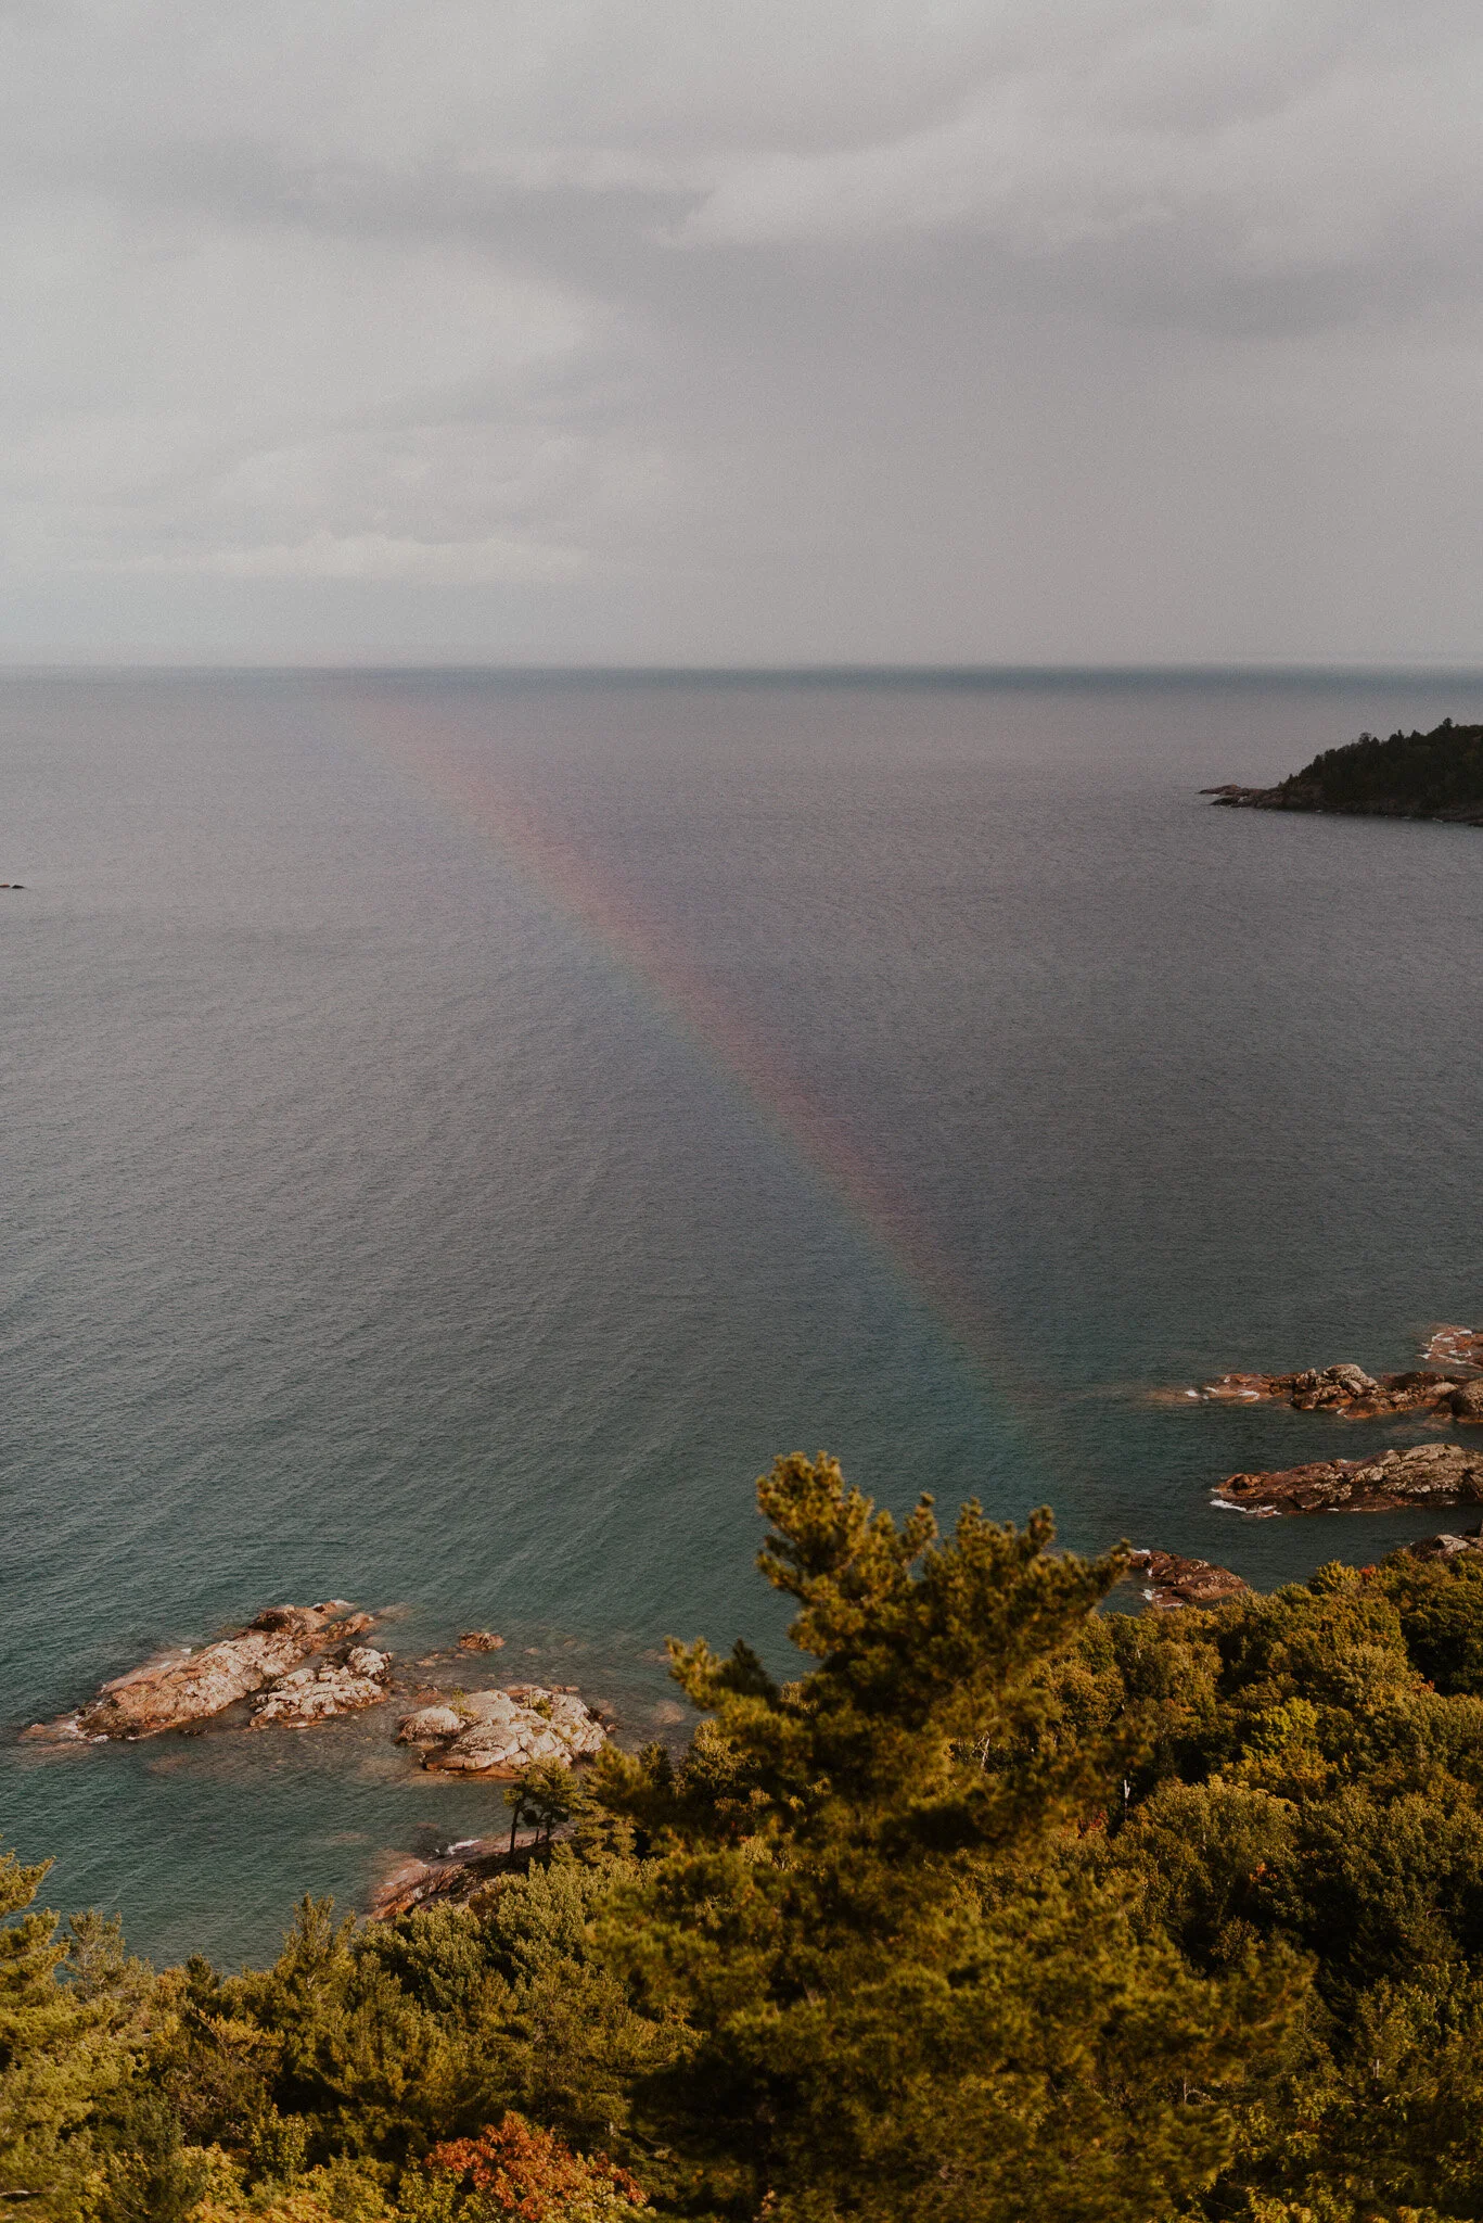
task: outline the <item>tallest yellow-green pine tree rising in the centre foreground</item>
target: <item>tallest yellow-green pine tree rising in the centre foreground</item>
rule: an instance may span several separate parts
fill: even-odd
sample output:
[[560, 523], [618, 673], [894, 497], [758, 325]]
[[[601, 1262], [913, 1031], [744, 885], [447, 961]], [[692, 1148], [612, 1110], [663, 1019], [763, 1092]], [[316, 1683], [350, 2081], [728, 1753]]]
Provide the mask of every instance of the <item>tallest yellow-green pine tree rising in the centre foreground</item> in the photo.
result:
[[940, 1541], [927, 1498], [898, 1529], [825, 1454], [758, 1501], [812, 1669], [674, 1645], [689, 1754], [596, 1778], [656, 1854], [605, 1936], [687, 2032], [645, 2092], [676, 2194], [778, 2223], [1174, 2212], [1278, 2001], [1138, 1943], [1083, 1856], [1136, 1729], [1087, 1736], [1052, 1669], [1123, 1554], [976, 1505]]

